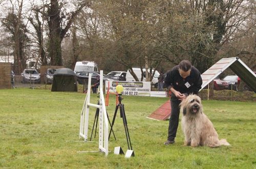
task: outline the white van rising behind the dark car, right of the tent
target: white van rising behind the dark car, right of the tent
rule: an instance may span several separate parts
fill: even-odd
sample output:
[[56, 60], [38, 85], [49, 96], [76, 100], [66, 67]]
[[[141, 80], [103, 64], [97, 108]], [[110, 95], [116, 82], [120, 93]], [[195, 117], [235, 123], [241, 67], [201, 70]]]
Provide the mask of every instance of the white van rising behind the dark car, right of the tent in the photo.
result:
[[76, 62], [74, 72], [98, 72], [98, 65], [93, 61]]

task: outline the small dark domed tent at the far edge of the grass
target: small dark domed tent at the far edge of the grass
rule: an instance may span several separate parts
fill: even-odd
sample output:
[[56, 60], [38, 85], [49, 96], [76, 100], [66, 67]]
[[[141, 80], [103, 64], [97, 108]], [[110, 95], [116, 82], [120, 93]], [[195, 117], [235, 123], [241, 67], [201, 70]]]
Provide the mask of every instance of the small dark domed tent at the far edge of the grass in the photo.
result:
[[77, 92], [76, 74], [69, 68], [57, 69], [53, 74], [52, 92]]

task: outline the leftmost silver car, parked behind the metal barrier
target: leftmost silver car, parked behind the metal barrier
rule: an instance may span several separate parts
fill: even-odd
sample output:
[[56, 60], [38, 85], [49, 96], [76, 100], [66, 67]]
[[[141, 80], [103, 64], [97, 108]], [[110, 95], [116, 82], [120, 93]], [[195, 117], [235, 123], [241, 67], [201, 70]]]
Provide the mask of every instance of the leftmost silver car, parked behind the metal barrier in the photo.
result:
[[24, 82], [40, 83], [40, 74], [36, 69], [24, 69], [22, 72]]

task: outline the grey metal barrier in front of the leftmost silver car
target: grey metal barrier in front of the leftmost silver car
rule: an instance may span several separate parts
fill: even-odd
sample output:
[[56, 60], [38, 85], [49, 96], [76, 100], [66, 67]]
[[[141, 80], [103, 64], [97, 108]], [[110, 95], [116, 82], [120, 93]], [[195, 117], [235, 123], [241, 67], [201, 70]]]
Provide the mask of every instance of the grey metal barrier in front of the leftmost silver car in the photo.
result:
[[15, 88], [32, 88], [40, 86], [40, 83], [35, 83], [33, 77], [25, 78], [24, 76], [14, 75], [12, 78], [12, 87]]

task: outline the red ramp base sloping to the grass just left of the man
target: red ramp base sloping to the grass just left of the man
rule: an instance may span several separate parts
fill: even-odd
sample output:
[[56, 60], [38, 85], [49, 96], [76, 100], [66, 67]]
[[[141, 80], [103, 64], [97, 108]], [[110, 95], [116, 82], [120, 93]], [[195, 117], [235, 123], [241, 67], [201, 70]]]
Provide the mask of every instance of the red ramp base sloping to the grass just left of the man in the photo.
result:
[[170, 100], [168, 100], [147, 118], [153, 120], [166, 120], [170, 117], [170, 110]]

